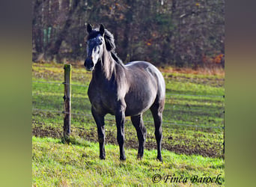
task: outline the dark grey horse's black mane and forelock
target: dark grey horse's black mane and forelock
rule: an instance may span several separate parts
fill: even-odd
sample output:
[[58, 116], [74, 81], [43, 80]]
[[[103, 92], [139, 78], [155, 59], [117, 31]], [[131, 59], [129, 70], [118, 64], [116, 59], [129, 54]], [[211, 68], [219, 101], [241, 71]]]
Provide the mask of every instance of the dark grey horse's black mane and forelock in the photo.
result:
[[[88, 40], [91, 38], [97, 37], [97, 35], [100, 34], [99, 28], [94, 29], [94, 31], [91, 31], [91, 33], [88, 35]], [[104, 39], [105, 39], [105, 45], [106, 49], [111, 53], [112, 58], [121, 65], [123, 64], [123, 61], [118, 57], [118, 54], [115, 52], [115, 39], [114, 35], [108, 31], [105, 28], [105, 33], [104, 33]]]

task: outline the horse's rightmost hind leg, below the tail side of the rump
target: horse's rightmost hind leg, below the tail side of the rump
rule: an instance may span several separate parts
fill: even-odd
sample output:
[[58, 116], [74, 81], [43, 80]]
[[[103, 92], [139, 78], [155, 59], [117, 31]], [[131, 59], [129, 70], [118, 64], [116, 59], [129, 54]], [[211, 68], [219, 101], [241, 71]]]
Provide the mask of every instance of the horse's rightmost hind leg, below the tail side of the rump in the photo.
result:
[[163, 111], [164, 100], [154, 102], [151, 106], [150, 111], [153, 115], [153, 120], [155, 123], [155, 136], [157, 144], [157, 159], [162, 162], [161, 155], [161, 142], [162, 142], [162, 111]]

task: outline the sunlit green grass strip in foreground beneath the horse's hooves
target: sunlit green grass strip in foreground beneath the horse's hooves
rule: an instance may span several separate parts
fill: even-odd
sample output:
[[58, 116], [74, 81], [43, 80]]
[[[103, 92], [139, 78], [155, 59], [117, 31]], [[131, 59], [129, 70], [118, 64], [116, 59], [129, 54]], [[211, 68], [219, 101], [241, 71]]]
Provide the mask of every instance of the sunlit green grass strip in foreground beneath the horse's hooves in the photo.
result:
[[[136, 159], [137, 150], [126, 150], [127, 161], [119, 161], [118, 146], [106, 144], [106, 160], [98, 159], [98, 144], [62, 144], [60, 139], [33, 137], [34, 186], [174, 186], [198, 185], [191, 177], [217, 177], [224, 184], [224, 161], [204, 156], [177, 155], [163, 150], [164, 162], [156, 161], [156, 150], [146, 150], [144, 159]], [[162, 176], [153, 183], [155, 174]], [[164, 177], [188, 177], [186, 183], [165, 183]], [[171, 177], [170, 177], [171, 178]], [[209, 185], [209, 183], [208, 183]], [[210, 183], [210, 186], [219, 186]]]

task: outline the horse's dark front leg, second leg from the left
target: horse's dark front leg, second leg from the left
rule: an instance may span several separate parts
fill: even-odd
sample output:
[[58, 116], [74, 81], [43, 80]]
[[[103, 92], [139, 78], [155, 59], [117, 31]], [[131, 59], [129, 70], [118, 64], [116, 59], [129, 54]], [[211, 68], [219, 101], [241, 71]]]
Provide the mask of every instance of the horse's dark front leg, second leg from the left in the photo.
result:
[[124, 122], [125, 122], [125, 104], [122, 104], [118, 107], [118, 110], [115, 114], [115, 121], [118, 128], [118, 144], [120, 149], [120, 159], [125, 160], [125, 154], [124, 154]]

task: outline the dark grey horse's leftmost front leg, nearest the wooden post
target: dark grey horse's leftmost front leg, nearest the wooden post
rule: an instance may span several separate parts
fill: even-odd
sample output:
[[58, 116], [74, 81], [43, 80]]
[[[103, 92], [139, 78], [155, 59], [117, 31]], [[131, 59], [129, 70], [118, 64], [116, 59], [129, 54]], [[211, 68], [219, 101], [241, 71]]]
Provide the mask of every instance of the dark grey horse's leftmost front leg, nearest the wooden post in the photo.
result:
[[97, 124], [98, 131], [98, 141], [100, 144], [100, 159], [105, 159], [105, 123], [104, 123], [104, 115], [98, 114], [94, 108], [91, 108], [91, 113], [94, 116], [95, 123]]

